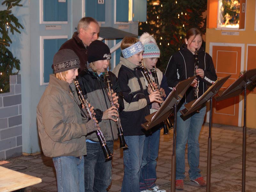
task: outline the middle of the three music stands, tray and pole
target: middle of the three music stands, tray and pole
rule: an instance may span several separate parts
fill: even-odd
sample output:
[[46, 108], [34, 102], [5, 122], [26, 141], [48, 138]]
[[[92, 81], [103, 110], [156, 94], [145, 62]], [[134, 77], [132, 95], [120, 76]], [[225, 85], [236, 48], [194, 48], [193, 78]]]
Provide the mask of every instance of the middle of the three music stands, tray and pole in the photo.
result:
[[208, 137], [208, 150], [207, 150], [207, 179], [206, 179], [206, 191], [211, 190], [211, 156], [212, 156], [212, 137], [211, 137], [211, 129], [212, 129], [212, 97], [220, 90], [221, 86], [228, 80], [230, 77], [226, 76], [218, 79], [212, 84], [209, 89], [207, 89], [204, 94], [196, 100], [193, 100], [186, 105], [184, 105], [185, 109], [181, 110], [180, 113], [182, 116], [187, 116], [193, 113], [198, 108], [202, 107], [202, 105], [210, 99], [210, 118], [209, 118], [209, 137]]

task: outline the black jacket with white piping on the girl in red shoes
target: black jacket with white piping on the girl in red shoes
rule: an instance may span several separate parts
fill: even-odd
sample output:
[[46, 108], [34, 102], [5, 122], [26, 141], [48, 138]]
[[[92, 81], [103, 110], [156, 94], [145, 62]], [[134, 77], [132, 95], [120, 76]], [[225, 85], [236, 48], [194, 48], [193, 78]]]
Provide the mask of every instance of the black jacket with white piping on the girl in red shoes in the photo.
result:
[[[212, 57], [204, 51], [201, 46], [198, 50], [199, 66], [204, 70], [204, 78], [199, 77], [198, 97], [208, 89], [207, 85], [212, 85], [217, 80], [217, 75], [213, 65]], [[169, 87], [175, 87], [180, 81], [194, 76], [195, 55], [183, 46], [180, 51], [174, 53], [167, 65], [165, 76]], [[182, 101], [190, 102], [195, 99], [194, 89], [189, 86]], [[181, 103], [183, 103], [181, 102]]]

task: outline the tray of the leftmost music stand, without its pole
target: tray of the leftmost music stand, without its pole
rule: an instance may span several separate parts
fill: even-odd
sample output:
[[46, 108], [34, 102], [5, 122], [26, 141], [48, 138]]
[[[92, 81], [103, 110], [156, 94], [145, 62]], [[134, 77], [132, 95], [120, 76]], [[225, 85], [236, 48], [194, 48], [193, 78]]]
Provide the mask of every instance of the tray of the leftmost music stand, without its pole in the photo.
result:
[[152, 127], [156, 126], [157, 124], [163, 122], [165, 119], [170, 116], [173, 109], [172, 107], [174, 104], [183, 98], [183, 95], [187, 91], [189, 85], [193, 82], [195, 79], [195, 76], [190, 77], [188, 79], [185, 79], [183, 81], [180, 81], [173, 89], [172, 92], [168, 95], [162, 106], [158, 109], [158, 111], [145, 116], [145, 119], [147, 120], [146, 123], [141, 124], [141, 126], [145, 130], [149, 130]]

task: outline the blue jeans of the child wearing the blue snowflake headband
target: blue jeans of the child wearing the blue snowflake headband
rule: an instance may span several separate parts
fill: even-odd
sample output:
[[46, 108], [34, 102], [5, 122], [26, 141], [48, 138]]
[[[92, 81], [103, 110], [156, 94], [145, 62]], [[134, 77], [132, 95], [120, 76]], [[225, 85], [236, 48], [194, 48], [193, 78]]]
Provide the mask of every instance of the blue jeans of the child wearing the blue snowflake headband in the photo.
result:
[[145, 135], [124, 136], [128, 149], [123, 151], [124, 178], [121, 192], [140, 191], [140, 166]]

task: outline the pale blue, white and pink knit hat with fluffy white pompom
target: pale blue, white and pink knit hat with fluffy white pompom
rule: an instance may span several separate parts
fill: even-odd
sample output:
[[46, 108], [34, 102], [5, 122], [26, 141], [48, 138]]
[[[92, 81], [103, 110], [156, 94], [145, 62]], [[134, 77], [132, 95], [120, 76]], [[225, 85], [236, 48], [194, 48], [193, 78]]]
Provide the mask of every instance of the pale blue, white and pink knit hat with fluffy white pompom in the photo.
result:
[[160, 49], [156, 44], [156, 39], [153, 35], [145, 32], [140, 38], [140, 42], [144, 45], [143, 58], [159, 58]]

